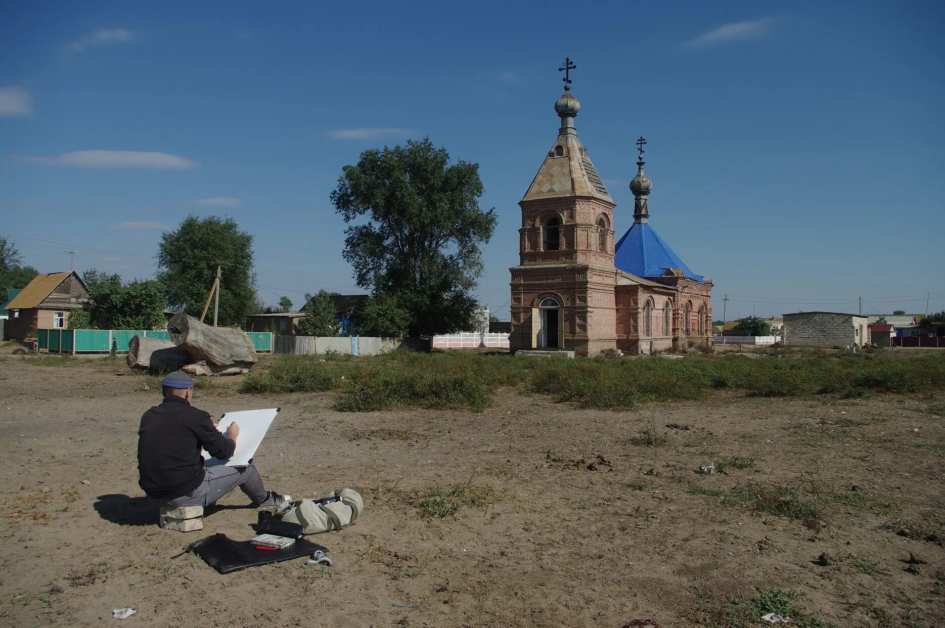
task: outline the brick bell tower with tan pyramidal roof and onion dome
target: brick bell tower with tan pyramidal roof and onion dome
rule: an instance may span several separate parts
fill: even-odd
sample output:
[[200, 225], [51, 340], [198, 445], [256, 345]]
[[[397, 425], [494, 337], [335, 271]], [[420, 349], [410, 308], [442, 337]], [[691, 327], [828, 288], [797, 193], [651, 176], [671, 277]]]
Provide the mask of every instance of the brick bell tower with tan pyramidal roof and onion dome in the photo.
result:
[[558, 137], [519, 202], [519, 265], [512, 280], [512, 351], [616, 348], [614, 202], [577, 139], [581, 105], [571, 93], [571, 59], [555, 103]]

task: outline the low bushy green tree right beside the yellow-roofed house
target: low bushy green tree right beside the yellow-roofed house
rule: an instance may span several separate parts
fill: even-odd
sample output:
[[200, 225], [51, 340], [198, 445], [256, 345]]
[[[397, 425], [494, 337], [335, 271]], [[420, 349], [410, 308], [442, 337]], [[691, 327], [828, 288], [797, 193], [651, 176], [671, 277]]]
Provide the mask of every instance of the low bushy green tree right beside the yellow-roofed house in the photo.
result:
[[[69, 325], [73, 329], [101, 330], [154, 330], [163, 329], [164, 307], [163, 287], [156, 280], [132, 280], [122, 283], [117, 274], [108, 274], [94, 268], [82, 274], [82, 280], [89, 290], [93, 305], [89, 310], [91, 326], [81, 328], [86, 323], [81, 314], [74, 322], [72, 315]], [[77, 314], [76, 311], [73, 314]]]

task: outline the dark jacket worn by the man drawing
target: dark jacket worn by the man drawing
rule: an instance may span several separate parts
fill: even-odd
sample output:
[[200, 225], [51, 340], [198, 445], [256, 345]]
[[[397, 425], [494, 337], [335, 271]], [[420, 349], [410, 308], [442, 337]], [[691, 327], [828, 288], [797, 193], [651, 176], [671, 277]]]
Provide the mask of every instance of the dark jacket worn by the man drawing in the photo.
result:
[[174, 500], [203, 482], [200, 450], [226, 460], [236, 444], [217, 431], [210, 415], [180, 397], [167, 397], [141, 417], [138, 484], [147, 497]]

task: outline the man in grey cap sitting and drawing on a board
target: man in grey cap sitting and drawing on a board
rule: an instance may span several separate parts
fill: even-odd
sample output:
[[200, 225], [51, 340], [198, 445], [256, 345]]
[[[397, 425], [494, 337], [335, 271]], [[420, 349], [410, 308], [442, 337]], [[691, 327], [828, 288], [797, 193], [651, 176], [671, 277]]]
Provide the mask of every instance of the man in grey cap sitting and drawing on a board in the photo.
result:
[[174, 371], [162, 382], [163, 403], [141, 417], [138, 429], [138, 484], [162, 506], [210, 506], [237, 486], [256, 508], [283, 500], [263, 488], [256, 467], [204, 467], [200, 450], [221, 460], [236, 449], [239, 426], [220, 433], [210, 415], [190, 404], [194, 381]]

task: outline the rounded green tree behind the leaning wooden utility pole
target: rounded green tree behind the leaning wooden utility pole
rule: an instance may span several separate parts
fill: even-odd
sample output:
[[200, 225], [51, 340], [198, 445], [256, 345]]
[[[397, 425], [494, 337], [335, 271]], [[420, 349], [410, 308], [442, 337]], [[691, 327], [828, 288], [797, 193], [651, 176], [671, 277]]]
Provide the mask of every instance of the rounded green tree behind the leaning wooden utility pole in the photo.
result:
[[[256, 306], [252, 236], [227, 216], [189, 215], [165, 231], [158, 250], [158, 280], [174, 309], [200, 316], [220, 265], [219, 324], [242, 327]], [[213, 304], [210, 306], [213, 308]], [[208, 311], [213, 316], [213, 310]]]

